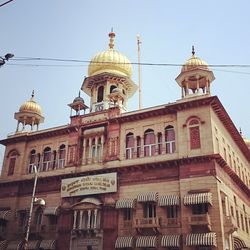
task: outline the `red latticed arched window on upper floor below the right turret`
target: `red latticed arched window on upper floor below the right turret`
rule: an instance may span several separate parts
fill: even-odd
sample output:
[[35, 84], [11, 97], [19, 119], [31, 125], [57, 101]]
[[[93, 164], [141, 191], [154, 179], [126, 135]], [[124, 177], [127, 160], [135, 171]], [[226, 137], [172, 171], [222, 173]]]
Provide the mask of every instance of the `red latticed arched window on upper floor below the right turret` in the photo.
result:
[[197, 118], [193, 118], [188, 123], [190, 148], [197, 149], [201, 147], [200, 140], [200, 121]]

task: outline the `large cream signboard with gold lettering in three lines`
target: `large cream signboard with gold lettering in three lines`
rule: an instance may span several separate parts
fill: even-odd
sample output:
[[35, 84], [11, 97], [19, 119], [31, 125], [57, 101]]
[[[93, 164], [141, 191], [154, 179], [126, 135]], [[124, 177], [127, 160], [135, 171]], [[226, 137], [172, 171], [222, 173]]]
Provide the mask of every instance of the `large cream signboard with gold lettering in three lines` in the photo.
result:
[[61, 184], [61, 197], [112, 193], [116, 191], [116, 173], [68, 178], [63, 179]]

